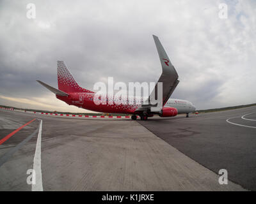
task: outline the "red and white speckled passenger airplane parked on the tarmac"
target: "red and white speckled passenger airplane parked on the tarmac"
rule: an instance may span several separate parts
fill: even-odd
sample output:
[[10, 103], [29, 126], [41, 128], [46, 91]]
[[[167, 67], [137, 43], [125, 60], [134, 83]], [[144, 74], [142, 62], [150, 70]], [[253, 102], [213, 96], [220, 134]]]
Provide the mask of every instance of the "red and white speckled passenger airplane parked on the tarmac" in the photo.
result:
[[[134, 99], [134, 103], [127, 104], [122, 103], [122, 100], [121, 103], [115, 103], [115, 101], [114, 103], [108, 103], [111, 99], [106, 96], [106, 103], [96, 105], [93, 101], [96, 93], [80, 87], [63, 61], [57, 62], [58, 89], [40, 80], [36, 81], [56, 94], [56, 98], [65, 101], [68, 105], [74, 105], [94, 112], [131, 114], [132, 120], [136, 120], [137, 115], [140, 116], [141, 120], [147, 120], [148, 117], [154, 117], [154, 115], [159, 115], [160, 117], [175, 117], [178, 113], [186, 113], [186, 117], [189, 117], [189, 113], [194, 112], [196, 108], [190, 101], [170, 99], [170, 96], [179, 84], [179, 75], [164, 51], [159, 38], [155, 35], [153, 35], [153, 38], [163, 69], [162, 75], [158, 80], [158, 82], [163, 83], [163, 101], [161, 101], [162, 106], [158, 109], [155, 104], [150, 103], [150, 97], [146, 100], [136, 98]], [[150, 96], [152, 96], [153, 92], [155, 93], [154, 96], [157, 96], [157, 85], [154, 87]], [[125, 102], [127, 102], [126, 100], [127, 98], [124, 98]], [[141, 101], [141, 103], [138, 103], [138, 100]], [[147, 103], [145, 103], [145, 101], [147, 101]]]

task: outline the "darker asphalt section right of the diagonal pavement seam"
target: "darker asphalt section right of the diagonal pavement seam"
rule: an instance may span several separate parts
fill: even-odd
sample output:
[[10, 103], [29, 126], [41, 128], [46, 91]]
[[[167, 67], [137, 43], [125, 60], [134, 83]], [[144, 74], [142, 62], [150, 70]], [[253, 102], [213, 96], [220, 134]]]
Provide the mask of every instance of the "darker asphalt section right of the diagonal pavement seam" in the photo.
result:
[[206, 168], [226, 169], [228, 180], [256, 191], [256, 106], [139, 122]]

